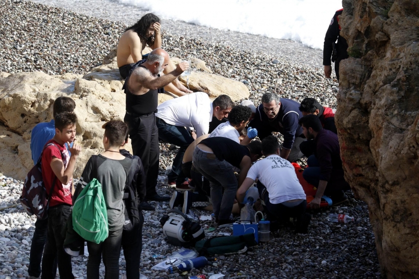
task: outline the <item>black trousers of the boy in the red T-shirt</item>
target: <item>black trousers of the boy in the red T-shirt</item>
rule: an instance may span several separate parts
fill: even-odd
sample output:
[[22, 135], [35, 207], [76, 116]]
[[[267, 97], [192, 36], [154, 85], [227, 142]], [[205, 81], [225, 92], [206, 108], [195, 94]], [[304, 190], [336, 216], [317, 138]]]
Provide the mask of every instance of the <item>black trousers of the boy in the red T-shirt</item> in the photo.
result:
[[64, 252], [64, 239], [61, 234], [67, 228], [67, 219], [70, 215], [69, 205], [59, 205], [48, 209], [47, 242], [42, 257], [41, 279], [54, 279], [57, 270], [54, 270], [55, 259], [58, 263], [58, 272], [61, 279], [74, 279], [71, 269], [71, 256]]

